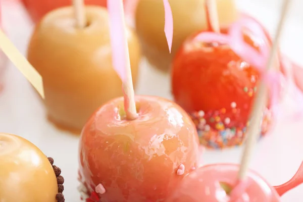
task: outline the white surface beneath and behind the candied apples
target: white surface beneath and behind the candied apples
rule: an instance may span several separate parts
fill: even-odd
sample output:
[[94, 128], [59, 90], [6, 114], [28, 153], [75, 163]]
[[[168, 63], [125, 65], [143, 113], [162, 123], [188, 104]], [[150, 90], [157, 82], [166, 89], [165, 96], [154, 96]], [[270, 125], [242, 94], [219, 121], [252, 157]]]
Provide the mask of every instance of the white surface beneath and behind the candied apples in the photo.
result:
[[[252, 3], [255, 2], [255, 3]], [[265, 2], [261, 5], [261, 2]], [[238, 0], [242, 11], [257, 17], [273, 32], [278, 15], [279, 4], [275, 0]], [[289, 17], [281, 47], [291, 59], [303, 65], [303, 15], [300, 0], [294, 1], [293, 12]], [[11, 40], [22, 53], [32, 26], [21, 8], [7, 3], [3, 6], [4, 26]], [[163, 75], [142, 63], [137, 94], [152, 94], [171, 98], [169, 76]], [[144, 79], [142, 79], [144, 78]], [[48, 156], [54, 157], [55, 164], [62, 169], [65, 177], [64, 195], [67, 202], [78, 202], [77, 167], [78, 137], [58, 131], [45, 119], [45, 110], [25, 78], [13, 66], [9, 65], [5, 80], [5, 90], [0, 95], [0, 131], [13, 133], [27, 138], [36, 144]], [[159, 91], [160, 89], [160, 91]], [[303, 160], [303, 135], [300, 126], [303, 120], [296, 122], [279, 121], [272, 133], [259, 142], [251, 162], [251, 168], [257, 170], [272, 185], [278, 185], [290, 179]], [[56, 148], [55, 148], [56, 147]], [[206, 151], [203, 163], [239, 162], [240, 149], [224, 151]], [[283, 202], [301, 201], [303, 186], [290, 191], [282, 197]]]

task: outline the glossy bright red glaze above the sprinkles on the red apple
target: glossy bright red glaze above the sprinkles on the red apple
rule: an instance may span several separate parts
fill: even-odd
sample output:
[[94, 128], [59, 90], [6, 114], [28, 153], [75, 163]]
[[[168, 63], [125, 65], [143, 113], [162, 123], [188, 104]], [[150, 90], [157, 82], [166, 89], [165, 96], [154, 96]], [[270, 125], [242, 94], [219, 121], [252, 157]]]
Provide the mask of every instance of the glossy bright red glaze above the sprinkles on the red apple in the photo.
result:
[[[225, 109], [225, 116], [231, 119], [229, 127], [245, 126], [259, 72], [228, 45], [196, 41], [194, 36], [184, 42], [173, 61], [172, 91], [176, 103], [189, 113]], [[247, 34], [244, 40], [258, 49]], [[237, 113], [233, 112], [232, 103], [236, 104]]]

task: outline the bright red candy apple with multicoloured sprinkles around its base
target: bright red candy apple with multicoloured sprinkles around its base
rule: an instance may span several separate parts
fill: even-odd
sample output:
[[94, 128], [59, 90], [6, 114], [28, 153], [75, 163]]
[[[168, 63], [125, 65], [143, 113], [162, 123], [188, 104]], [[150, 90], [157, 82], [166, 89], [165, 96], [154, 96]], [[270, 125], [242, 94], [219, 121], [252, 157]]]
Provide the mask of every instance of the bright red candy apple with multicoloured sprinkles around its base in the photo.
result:
[[[251, 34], [243, 32], [244, 40], [258, 50]], [[259, 71], [227, 44], [195, 40], [196, 35], [187, 38], [172, 64], [175, 102], [191, 115], [201, 143], [213, 148], [239, 145], [249, 121]], [[262, 134], [268, 130], [270, 118], [267, 108]]]

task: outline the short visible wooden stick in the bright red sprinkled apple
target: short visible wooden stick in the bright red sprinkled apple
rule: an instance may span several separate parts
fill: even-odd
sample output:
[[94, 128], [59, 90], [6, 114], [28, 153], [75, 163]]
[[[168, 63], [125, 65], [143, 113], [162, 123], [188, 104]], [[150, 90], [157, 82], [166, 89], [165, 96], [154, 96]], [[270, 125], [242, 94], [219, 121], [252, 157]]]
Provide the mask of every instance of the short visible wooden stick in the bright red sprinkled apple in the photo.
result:
[[209, 24], [214, 32], [220, 33], [220, 23], [216, 0], [206, 0]]

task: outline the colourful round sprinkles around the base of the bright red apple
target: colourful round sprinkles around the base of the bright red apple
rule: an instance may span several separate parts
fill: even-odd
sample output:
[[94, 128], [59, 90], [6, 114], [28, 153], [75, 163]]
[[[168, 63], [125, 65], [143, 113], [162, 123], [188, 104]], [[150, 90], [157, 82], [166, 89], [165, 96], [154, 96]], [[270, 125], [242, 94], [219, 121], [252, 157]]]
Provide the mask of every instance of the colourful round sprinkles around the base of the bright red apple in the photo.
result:
[[[231, 107], [236, 107], [236, 104], [232, 103]], [[246, 127], [249, 124], [247, 121], [243, 126], [233, 126], [232, 119], [226, 117], [227, 115], [222, 113], [222, 110], [198, 111], [189, 115], [197, 127], [200, 143], [208, 148], [222, 149], [241, 145], [245, 137]], [[270, 128], [271, 121], [272, 113], [266, 108], [263, 112], [261, 136], [264, 136]]]

